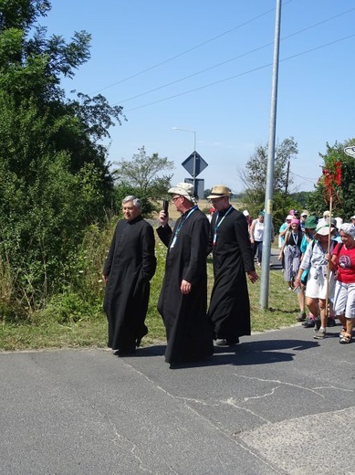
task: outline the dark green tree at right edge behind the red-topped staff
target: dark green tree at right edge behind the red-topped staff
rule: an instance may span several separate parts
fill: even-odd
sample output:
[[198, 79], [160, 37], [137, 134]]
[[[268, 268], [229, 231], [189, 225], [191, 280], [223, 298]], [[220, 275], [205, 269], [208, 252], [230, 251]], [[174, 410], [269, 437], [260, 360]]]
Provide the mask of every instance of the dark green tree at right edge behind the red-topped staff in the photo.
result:
[[[335, 142], [330, 146], [327, 142], [326, 153], [319, 153], [324, 161], [324, 169], [334, 171], [335, 164], [341, 163], [341, 184], [335, 186], [333, 194], [333, 213], [349, 221], [355, 211], [355, 164], [354, 159], [344, 153], [344, 148], [355, 145], [355, 139], [341, 143]], [[329, 209], [329, 196], [324, 183], [324, 175], [318, 179], [316, 190], [308, 196], [308, 208], [322, 216], [325, 209]]]

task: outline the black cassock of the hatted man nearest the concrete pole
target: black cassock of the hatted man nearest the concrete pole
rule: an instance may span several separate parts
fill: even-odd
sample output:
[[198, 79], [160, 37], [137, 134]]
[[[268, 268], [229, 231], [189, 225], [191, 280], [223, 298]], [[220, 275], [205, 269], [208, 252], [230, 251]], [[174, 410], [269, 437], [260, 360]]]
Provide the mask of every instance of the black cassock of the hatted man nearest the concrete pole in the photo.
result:
[[237, 337], [250, 335], [245, 272], [255, 270], [255, 266], [245, 216], [233, 207], [228, 209], [215, 212], [211, 222], [208, 251], [213, 251], [214, 288], [208, 316], [214, 339], [234, 343]]

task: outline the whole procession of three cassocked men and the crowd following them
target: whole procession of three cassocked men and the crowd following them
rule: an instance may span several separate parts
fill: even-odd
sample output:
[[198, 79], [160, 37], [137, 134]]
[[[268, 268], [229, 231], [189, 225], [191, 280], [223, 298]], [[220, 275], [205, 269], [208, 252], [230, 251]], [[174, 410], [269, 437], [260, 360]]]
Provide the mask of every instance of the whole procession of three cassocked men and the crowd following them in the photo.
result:
[[[211, 358], [214, 344], [234, 346], [250, 335], [247, 280], [258, 279], [262, 265], [264, 212], [252, 219], [230, 203], [231, 190], [215, 185], [207, 196], [210, 219], [198, 208], [193, 185], [179, 183], [168, 190], [181, 216], [174, 227], [169, 212], [158, 216], [157, 235], [167, 248], [158, 311], [166, 331], [165, 361], [171, 367]], [[114, 354], [134, 354], [148, 332], [145, 318], [150, 280], [156, 269], [155, 237], [141, 216], [141, 201], [122, 201], [120, 219], [103, 269], [104, 311], [108, 346]], [[355, 216], [352, 216], [355, 222]], [[327, 326], [339, 319], [339, 343], [350, 343], [355, 319], [355, 226], [325, 212], [318, 220], [290, 210], [279, 229], [279, 256], [287, 289], [295, 291], [306, 328], [314, 338], [327, 336]], [[272, 229], [271, 241], [274, 240]], [[270, 243], [271, 245], [271, 243]], [[207, 308], [206, 258], [212, 255], [214, 286]], [[306, 312], [308, 309], [308, 314]]]

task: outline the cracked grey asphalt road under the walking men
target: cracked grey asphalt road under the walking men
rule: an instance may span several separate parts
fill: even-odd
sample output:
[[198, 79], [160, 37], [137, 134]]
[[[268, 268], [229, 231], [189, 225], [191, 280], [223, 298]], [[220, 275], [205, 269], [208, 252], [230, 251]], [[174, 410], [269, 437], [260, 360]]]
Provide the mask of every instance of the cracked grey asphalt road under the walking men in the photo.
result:
[[162, 345], [0, 354], [0, 473], [354, 474], [355, 344], [300, 325], [170, 369]]

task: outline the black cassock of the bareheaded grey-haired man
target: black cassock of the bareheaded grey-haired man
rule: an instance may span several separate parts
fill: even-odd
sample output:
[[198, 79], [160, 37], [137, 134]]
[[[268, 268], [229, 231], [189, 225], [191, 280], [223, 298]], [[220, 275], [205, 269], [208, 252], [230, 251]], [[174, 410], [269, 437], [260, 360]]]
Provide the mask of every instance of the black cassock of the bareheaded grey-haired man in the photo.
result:
[[109, 278], [104, 310], [113, 350], [132, 350], [148, 333], [144, 321], [156, 268], [154, 246], [153, 229], [141, 216], [117, 223], [103, 269]]

